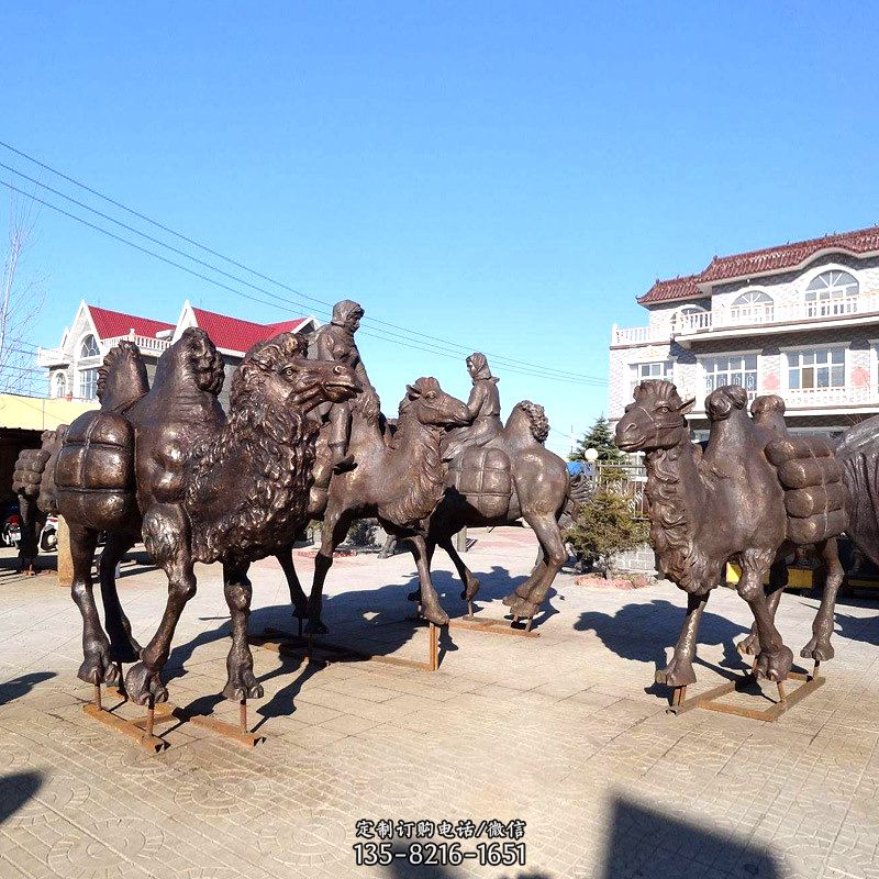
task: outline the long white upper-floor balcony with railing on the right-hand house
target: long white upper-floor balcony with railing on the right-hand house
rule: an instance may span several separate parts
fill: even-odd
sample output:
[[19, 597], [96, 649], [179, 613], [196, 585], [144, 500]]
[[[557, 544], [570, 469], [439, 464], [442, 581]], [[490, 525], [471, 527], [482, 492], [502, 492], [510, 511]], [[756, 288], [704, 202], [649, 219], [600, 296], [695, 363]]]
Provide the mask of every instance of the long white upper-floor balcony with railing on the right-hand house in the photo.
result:
[[858, 296], [815, 299], [792, 304], [755, 302], [726, 305], [711, 311], [675, 314], [670, 322], [652, 326], [622, 327], [614, 324], [611, 345], [647, 345], [737, 334], [785, 332], [809, 326], [857, 324], [879, 321], [879, 290]]

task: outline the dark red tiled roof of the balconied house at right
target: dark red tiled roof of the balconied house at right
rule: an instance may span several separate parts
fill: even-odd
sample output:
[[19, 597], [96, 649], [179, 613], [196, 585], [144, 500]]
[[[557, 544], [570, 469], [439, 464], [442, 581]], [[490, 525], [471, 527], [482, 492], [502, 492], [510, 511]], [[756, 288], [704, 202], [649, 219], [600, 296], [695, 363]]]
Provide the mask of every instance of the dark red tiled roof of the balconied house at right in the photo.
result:
[[764, 247], [732, 256], [715, 256], [699, 275], [657, 281], [638, 302], [667, 302], [674, 299], [690, 299], [699, 296], [699, 283], [732, 280], [733, 278], [750, 278], [781, 271], [802, 265], [806, 259], [826, 251], [847, 251], [852, 254], [879, 253], [879, 226], [858, 229], [820, 238], [782, 244], [777, 247]]

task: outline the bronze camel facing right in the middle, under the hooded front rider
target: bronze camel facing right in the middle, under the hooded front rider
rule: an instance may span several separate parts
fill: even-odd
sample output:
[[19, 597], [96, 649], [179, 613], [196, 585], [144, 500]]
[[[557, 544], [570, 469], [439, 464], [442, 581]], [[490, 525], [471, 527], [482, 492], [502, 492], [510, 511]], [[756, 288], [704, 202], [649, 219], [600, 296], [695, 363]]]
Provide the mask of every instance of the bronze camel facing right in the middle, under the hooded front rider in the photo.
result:
[[[309, 515], [322, 519], [323, 528], [308, 599], [293, 565], [292, 542], [278, 553], [297, 615], [307, 617], [309, 634], [327, 631], [321, 620], [321, 604], [333, 552], [355, 519], [375, 516], [388, 533], [409, 538], [424, 597], [422, 612], [432, 623], [445, 625], [448, 614], [431, 581], [424, 522], [443, 496], [442, 436], [447, 427], [467, 423], [467, 408], [446, 393], [435, 378], [420, 378], [407, 386], [392, 436], [385, 430], [374, 390], [360, 394], [352, 414], [348, 452], [356, 467], [333, 472], [329, 489], [315, 486], [311, 492]], [[319, 461], [329, 460], [332, 452], [326, 434], [326, 430], [321, 431]], [[320, 463], [315, 469], [327, 471]]]

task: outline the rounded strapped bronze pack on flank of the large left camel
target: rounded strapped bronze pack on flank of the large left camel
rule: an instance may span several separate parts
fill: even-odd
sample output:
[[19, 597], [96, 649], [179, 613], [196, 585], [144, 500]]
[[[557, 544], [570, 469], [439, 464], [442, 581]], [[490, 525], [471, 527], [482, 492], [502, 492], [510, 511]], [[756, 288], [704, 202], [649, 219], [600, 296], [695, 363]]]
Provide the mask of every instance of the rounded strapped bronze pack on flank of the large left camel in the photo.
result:
[[101, 410], [76, 419], [58, 453], [55, 487], [62, 515], [100, 531], [113, 527], [136, 504], [131, 423]]

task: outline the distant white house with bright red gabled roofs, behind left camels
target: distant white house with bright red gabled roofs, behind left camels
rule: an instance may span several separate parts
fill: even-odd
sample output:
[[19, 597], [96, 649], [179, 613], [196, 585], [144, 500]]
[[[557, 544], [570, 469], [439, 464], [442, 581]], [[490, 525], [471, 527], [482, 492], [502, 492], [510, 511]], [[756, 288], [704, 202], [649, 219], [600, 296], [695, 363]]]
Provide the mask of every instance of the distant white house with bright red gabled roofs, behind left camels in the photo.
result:
[[41, 348], [37, 364], [48, 370], [49, 397], [94, 400], [98, 367], [104, 355], [123, 338], [141, 349], [152, 380], [156, 363], [188, 326], [200, 326], [211, 337], [226, 365], [226, 381], [221, 401], [229, 402], [232, 370], [248, 348], [279, 333], [308, 333], [316, 329], [314, 318], [296, 318], [279, 323], [256, 323], [194, 308], [183, 303], [177, 323], [141, 318], [122, 311], [79, 303], [70, 325], [64, 331], [57, 348]]

